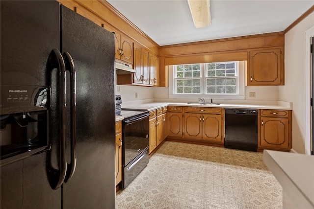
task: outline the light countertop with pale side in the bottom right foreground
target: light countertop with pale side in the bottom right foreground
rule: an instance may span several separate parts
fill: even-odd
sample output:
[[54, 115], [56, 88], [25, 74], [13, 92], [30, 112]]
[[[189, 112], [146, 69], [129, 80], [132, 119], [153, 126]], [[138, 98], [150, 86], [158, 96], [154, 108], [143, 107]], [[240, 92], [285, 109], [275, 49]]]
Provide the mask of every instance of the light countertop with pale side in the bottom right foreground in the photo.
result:
[[284, 209], [314, 209], [314, 156], [264, 150], [263, 160], [283, 187]]

